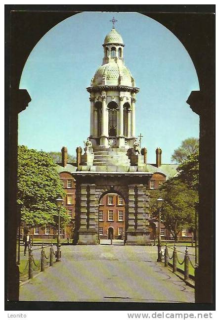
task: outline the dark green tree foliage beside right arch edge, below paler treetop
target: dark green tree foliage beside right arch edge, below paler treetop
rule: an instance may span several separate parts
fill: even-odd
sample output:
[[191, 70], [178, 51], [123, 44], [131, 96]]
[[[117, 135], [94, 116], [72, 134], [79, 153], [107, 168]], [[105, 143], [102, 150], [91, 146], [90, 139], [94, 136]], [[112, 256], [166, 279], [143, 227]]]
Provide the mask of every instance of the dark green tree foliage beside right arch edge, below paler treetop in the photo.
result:
[[178, 167], [178, 180], [186, 183], [191, 189], [199, 186], [199, 153], [190, 154]]

